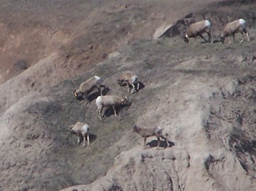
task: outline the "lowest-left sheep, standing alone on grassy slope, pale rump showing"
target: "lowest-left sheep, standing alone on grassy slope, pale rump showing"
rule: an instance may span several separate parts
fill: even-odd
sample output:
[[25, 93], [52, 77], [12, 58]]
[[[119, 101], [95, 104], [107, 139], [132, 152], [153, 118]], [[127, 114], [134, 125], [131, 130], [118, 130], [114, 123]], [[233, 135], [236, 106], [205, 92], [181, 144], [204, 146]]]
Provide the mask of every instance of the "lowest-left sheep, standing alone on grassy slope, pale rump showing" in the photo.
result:
[[90, 140], [89, 140], [89, 125], [85, 124], [83, 122], [76, 122], [75, 125], [71, 125], [69, 126], [71, 133], [75, 133], [77, 134], [78, 140], [77, 143], [80, 143], [82, 140], [80, 139], [82, 137], [82, 139], [84, 139], [84, 144], [82, 145], [82, 147], [85, 146], [85, 137], [87, 138], [87, 146], [89, 146], [90, 144]]

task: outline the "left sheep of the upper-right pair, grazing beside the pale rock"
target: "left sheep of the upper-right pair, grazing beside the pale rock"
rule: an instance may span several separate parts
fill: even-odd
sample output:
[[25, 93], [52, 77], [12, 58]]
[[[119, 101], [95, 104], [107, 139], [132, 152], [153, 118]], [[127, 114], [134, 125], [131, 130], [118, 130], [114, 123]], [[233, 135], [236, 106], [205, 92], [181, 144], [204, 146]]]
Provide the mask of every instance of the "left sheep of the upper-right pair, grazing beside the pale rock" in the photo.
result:
[[200, 22], [193, 23], [188, 27], [187, 32], [185, 33], [185, 36], [183, 36], [183, 40], [186, 43], [188, 43], [189, 38], [194, 37], [196, 41], [196, 37], [200, 36], [202, 39], [207, 41], [203, 37], [203, 33], [207, 33], [209, 36], [208, 41], [211, 41], [211, 43], [213, 43], [212, 32], [210, 30], [211, 26], [212, 24], [210, 24], [209, 20], [201, 20]]

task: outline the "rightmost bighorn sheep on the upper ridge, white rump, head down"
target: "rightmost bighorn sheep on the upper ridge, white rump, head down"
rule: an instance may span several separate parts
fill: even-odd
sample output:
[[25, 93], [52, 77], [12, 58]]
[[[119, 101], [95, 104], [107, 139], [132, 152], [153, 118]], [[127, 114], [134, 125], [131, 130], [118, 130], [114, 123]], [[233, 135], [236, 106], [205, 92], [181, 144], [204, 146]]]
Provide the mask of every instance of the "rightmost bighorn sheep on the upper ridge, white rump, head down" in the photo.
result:
[[[243, 19], [238, 19], [231, 23], [226, 24], [226, 26], [223, 29], [223, 32], [218, 37], [220, 37], [221, 43], [223, 44], [225, 41], [225, 37], [229, 36], [230, 37], [229, 44], [231, 44], [231, 36], [233, 36], [233, 40], [235, 41], [234, 35], [235, 35], [235, 33], [238, 33], [238, 32], [241, 32], [243, 37], [246, 34], [247, 41], [250, 41], [249, 32], [246, 29], [246, 21]], [[240, 43], [242, 43], [242, 42], [243, 42], [243, 38], [240, 41]]]

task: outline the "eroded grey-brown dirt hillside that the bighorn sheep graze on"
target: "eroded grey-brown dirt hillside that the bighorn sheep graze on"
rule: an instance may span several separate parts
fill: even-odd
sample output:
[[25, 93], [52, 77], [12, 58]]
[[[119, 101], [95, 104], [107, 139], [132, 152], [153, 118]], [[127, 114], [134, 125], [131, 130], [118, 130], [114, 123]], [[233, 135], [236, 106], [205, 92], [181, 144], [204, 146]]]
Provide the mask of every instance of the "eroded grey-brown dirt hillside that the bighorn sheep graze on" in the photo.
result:
[[[212, 2], [2, 1], [0, 190], [254, 190], [256, 5]], [[151, 40], [189, 12], [216, 35], [241, 16], [251, 41]], [[118, 86], [125, 70], [144, 84], [137, 94]], [[118, 118], [99, 120], [97, 93], [73, 98], [92, 75], [132, 101]], [[68, 131], [77, 121], [92, 127], [87, 148]], [[171, 146], [143, 150], [134, 122], [162, 126]]]

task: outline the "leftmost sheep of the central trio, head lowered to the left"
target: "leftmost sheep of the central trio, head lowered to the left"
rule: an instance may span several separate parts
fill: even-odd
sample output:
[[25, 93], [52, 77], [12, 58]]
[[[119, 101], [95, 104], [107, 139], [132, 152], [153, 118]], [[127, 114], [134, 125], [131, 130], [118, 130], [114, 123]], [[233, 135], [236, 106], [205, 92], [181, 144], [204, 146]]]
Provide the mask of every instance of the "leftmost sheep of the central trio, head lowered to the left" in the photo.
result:
[[90, 94], [90, 92], [92, 92], [94, 88], [97, 88], [102, 95], [101, 87], [104, 87], [104, 89], [106, 88], [104, 85], [101, 84], [102, 82], [103, 79], [96, 75], [86, 80], [85, 82], [82, 82], [79, 88], [73, 91], [73, 95], [76, 99], [80, 95], [82, 95], [84, 98], [87, 98], [88, 94]]

